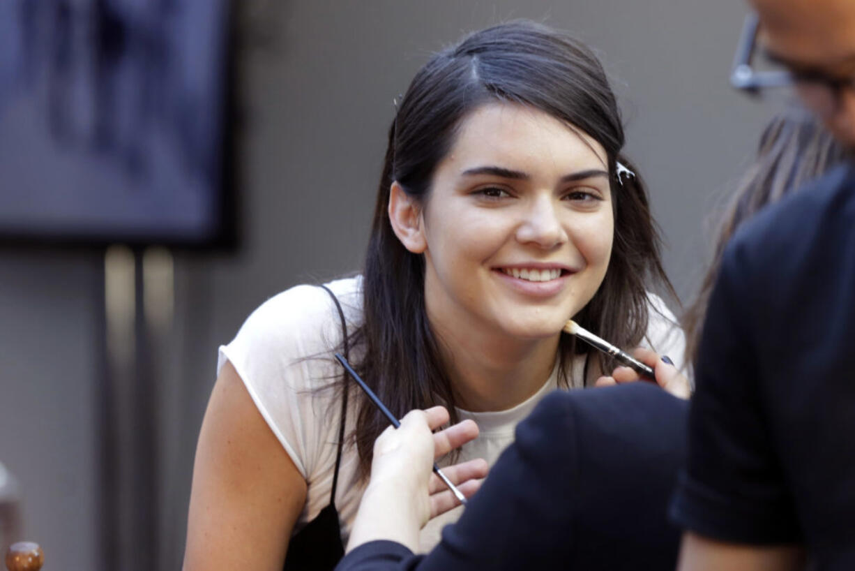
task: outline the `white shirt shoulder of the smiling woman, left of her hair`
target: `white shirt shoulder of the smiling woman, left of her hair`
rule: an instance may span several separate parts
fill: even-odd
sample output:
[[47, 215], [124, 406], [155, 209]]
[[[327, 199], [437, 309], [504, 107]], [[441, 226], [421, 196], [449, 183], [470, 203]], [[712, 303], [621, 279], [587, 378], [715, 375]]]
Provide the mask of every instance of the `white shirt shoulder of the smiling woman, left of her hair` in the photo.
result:
[[[361, 279], [324, 284], [345, 312], [348, 329], [361, 320]], [[339, 375], [330, 353], [342, 341], [341, 320], [324, 288], [298, 285], [276, 294], [246, 318], [220, 348], [217, 372], [228, 361], [252, 401], [307, 481], [330, 464], [339, 407], [331, 387]], [[332, 452], [330, 451], [332, 450]]]

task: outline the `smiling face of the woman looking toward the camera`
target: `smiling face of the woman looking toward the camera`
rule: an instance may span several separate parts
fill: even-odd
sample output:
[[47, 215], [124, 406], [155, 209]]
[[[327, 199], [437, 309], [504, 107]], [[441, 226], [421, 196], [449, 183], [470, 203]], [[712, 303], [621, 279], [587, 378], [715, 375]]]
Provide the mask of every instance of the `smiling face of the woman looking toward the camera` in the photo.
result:
[[543, 111], [482, 105], [437, 165], [420, 216], [433, 324], [556, 336], [609, 265], [606, 153]]

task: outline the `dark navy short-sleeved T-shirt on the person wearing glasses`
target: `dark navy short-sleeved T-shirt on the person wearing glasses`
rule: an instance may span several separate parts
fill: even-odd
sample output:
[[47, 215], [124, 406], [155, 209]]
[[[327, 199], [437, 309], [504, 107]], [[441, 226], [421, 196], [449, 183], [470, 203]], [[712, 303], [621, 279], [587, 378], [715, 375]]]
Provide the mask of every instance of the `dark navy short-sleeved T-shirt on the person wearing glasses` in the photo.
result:
[[834, 170], [728, 245], [672, 514], [709, 538], [804, 543], [855, 568], [855, 174]]

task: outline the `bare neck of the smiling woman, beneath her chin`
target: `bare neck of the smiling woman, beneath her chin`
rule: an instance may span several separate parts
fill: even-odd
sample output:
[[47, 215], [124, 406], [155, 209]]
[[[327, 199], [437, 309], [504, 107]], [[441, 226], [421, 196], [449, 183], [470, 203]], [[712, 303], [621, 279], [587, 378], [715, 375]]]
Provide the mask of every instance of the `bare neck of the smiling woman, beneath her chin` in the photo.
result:
[[558, 335], [521, 340], [485, 332], [483, 327], [431, 322], [457, 404], [466, 410], [515, 407], [540, 390], [555, 366]]

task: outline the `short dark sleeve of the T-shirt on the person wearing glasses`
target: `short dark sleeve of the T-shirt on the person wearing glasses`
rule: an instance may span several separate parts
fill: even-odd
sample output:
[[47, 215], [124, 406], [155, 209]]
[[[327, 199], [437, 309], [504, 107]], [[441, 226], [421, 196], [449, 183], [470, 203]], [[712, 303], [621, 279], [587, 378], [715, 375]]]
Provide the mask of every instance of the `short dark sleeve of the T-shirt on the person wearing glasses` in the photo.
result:
[[675, 522], [699, 535], [745, 544], [799, 540], [793, 501], [764, 418], [752, 309], [762, 271], [732, 243], [713, 290], [689, 413], [686, 470], [671, 504]]

